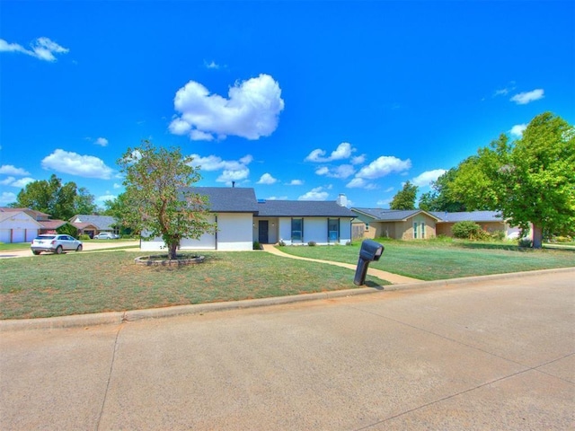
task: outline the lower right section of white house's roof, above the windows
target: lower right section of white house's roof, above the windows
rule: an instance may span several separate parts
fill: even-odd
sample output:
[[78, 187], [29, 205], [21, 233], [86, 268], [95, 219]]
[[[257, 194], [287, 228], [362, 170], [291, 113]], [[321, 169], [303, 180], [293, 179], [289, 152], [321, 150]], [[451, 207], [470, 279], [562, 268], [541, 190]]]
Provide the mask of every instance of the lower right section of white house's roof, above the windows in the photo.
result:
[[268, 200], [258, 203], [260, 217], [354, 217], [335, 201]]

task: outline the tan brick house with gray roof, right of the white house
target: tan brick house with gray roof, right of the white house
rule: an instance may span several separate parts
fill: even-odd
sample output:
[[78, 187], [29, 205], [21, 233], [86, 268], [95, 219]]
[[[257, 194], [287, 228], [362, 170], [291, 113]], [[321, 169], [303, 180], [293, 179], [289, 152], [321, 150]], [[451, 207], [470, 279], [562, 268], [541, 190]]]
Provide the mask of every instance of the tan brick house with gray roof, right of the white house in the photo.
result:
[[511, 232], [509, 224], [496, 211], [446, 213], [382, 208], [351, 208], [357, 217], [355, 224], [365, 225], [364, 238], [387, 237], [396, 240], [420, 240], [438, 235], [452, 236], [451, 227], [457, 222], [472, 221], [488, 232]]

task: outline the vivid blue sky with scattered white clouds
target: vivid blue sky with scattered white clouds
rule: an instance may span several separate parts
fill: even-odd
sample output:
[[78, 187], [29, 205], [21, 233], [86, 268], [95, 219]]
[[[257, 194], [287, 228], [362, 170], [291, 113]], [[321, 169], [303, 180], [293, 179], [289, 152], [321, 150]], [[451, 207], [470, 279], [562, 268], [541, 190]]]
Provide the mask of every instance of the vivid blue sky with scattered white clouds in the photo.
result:
[[142, 139], [199, 186], [388, 207], [550, 110], [575, 3], [0, 2], [0, 205], [55, 173], [102, 205]]

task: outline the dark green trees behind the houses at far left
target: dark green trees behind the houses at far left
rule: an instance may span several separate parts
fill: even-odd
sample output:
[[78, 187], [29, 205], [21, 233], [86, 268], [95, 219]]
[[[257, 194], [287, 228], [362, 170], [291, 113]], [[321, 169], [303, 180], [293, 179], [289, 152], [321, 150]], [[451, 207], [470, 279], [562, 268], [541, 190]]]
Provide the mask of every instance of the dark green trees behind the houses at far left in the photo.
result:
[[[79, 194], [78, 194], [79, 192]], [[67, 220], [75, 214], [92, 214], [93, 209], [88, 206], [93, 196], [87, 189], [77, 189], [75, 182], [62, 184], [62, 180], [52, 174], [49, 180], [37, 180], [27, 184], [18, 193], [13, 207], [25, 207], [47, 213], [52, 218]], [[79, 211], [79, 209], [82, 211]], [[90, 209], [90, 211], [84, 212]]]

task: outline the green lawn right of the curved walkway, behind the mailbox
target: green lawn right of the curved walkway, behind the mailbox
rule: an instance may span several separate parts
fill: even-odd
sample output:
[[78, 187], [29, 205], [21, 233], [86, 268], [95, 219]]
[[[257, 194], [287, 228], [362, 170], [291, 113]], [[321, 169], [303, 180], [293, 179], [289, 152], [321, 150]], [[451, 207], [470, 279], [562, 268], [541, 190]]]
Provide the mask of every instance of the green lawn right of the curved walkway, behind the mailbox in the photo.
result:
[[[505, 242], [381, 241], [385, 251], [370, 268], [421, 280], [575, 267], [575, 251], [524, 250]], [[357, 263], [360, 243], [334, 247], [280, 247], [314, 259]]]

